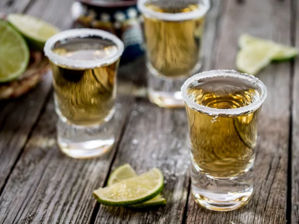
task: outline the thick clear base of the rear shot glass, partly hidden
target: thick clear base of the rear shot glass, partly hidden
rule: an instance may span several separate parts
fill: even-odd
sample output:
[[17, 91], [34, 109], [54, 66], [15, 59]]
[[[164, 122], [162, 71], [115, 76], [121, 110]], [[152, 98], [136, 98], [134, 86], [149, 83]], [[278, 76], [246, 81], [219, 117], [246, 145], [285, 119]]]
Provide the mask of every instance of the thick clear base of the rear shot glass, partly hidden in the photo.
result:
[[167, 77], [159, 74], [148, 62], [148, 97], [149, 101], [162, 108], [182, 108], [185, 103], [181, 96], [181, 86], [184, 82], [201, 69], [201, 61], [190, 71], [189, 75]]

